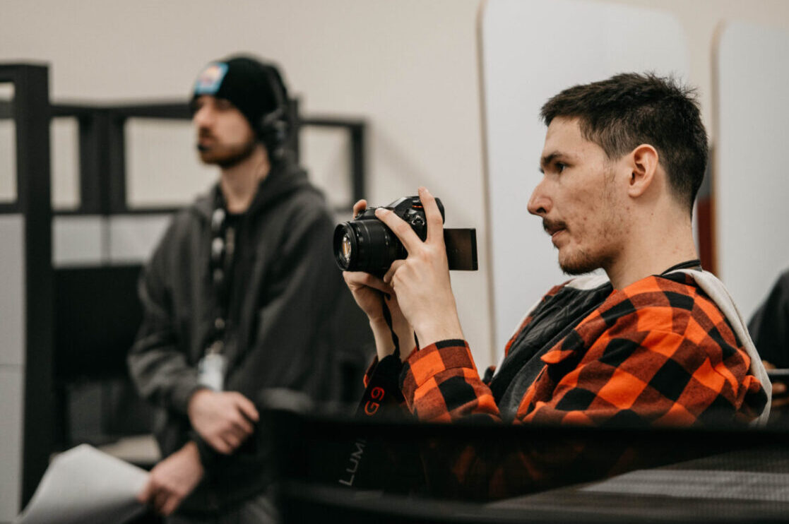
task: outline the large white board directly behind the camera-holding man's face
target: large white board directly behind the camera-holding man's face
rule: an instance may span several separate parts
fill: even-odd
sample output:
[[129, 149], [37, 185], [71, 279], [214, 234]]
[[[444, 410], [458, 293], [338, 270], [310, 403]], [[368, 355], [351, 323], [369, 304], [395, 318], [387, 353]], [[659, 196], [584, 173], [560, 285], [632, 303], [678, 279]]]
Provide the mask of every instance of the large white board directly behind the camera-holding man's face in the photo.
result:
[[551, 286], [567, 279], [541, 222], [526, 211], [540, 181], [542, 104], [571, 85], [626, 71], [686, 80], [680, 24], [602, 2], [488, 0], [482, 13], [488, 216], [496, 350]]

